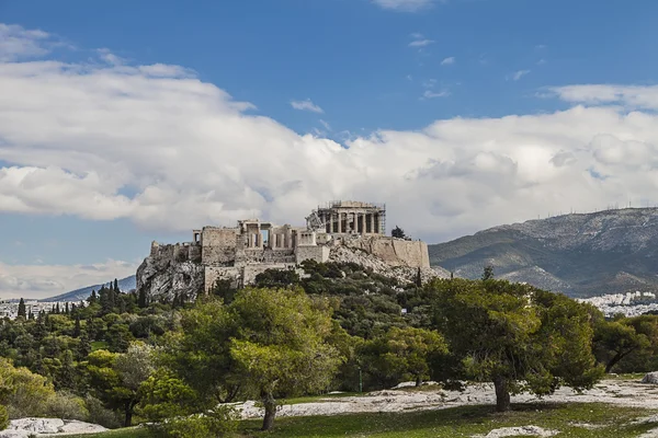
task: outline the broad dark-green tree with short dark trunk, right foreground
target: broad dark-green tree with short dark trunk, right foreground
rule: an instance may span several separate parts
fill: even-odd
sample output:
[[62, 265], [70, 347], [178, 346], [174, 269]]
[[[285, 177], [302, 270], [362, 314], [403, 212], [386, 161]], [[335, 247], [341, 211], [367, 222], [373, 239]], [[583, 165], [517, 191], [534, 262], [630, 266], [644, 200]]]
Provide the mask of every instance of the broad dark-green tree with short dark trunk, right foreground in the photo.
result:
[[434, 280], [430, 288], [435, 326], [454, 359], [441, 378], [494, 382], [497, 411], [509, 410], [510, 394], [588, 389], [603, 374], [587, 306], [502, 280]]

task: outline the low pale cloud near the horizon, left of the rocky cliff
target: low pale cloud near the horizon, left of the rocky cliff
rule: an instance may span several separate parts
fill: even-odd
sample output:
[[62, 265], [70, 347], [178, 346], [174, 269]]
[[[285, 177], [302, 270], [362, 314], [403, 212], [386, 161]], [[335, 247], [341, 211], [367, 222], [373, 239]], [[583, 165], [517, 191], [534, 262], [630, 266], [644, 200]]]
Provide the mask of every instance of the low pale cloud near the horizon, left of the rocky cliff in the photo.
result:
[[135, 264], [109, 260], [94, 265], [9, 265], [0, 262], [0, 299], [48, 298], [134, 275]]

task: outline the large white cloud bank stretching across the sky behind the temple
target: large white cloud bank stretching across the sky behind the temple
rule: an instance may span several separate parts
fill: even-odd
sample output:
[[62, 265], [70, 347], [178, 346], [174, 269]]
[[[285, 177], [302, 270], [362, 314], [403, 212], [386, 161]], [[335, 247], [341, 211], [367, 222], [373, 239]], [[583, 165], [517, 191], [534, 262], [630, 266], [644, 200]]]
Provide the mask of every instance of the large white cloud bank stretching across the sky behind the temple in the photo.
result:
[[386, 201], [390, 223], [432, 242], [571, 207], [658, 200], [656, 89], [548, 91], [594, 106], [339, 132], [339, 145], [249, 113], [179, 66], [0, 64], [0, 157], [12, 163], [0, 168], [0, 214], [186, 231], [251, 216], [302, 223], [318, 203], [356, 198]]

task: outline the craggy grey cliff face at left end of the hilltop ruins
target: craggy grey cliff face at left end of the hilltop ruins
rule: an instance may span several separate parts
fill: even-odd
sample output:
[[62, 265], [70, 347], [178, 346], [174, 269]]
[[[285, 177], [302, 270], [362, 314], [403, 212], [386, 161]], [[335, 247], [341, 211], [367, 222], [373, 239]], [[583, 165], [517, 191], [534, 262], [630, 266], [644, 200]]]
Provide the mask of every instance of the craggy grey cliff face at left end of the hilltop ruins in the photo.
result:
[[146, 291], [150, 300], [194, 299], [204, 291], [204, 267], [173, 257], [148, 256], [137, 268], [137, 290]]

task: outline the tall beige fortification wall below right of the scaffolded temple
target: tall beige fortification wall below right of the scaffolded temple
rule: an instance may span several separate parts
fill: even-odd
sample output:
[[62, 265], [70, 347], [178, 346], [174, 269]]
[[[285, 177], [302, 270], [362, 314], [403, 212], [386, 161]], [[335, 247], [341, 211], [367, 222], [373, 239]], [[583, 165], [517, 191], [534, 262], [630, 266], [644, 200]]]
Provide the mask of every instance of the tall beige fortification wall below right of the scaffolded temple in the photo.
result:
[[402, 240], [387, 237], [345, 239], [347, 246], [361, 249], [390, 266], [430, 267], [428, 244], [419, 240]]

